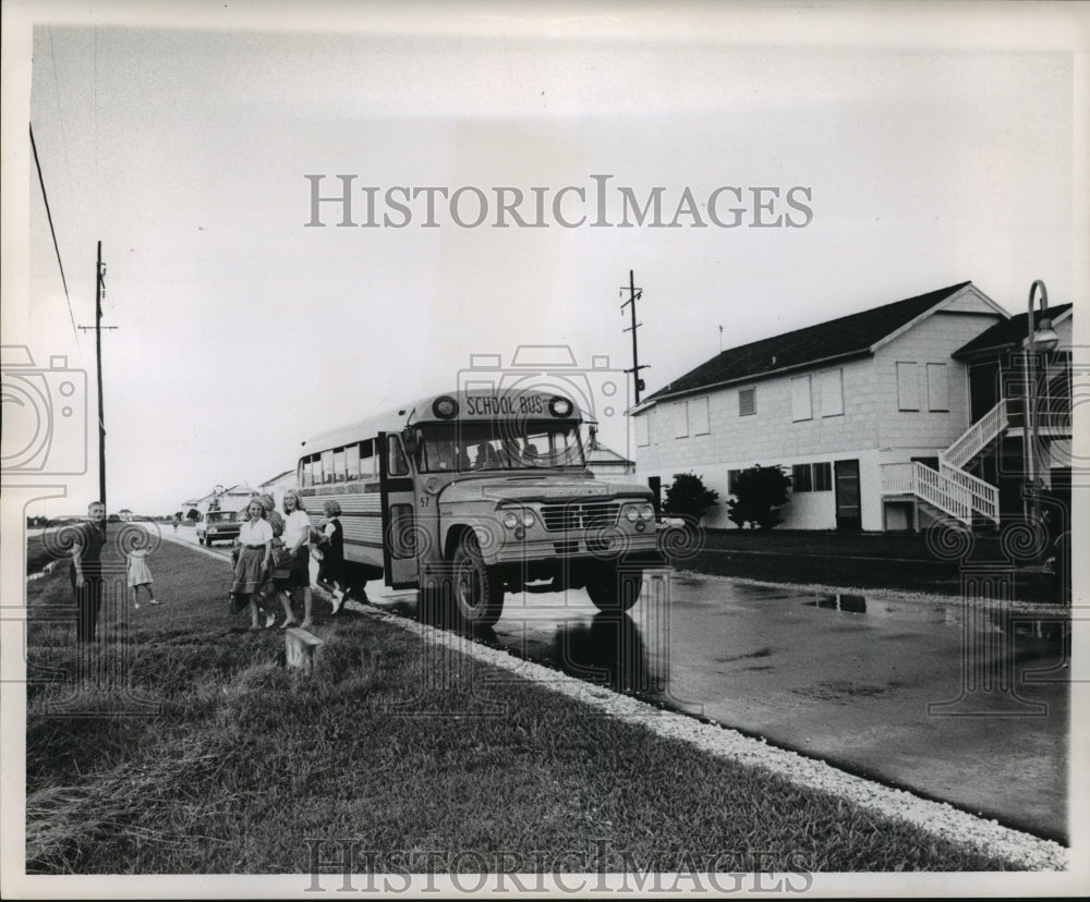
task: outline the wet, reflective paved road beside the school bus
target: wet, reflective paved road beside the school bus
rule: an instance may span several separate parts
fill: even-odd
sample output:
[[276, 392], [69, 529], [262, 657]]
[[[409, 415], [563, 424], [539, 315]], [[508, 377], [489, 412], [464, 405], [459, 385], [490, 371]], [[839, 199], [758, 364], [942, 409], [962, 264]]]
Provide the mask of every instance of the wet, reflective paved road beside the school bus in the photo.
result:
[[[378, 589], [377, 605], [420, 614], [414, 593]], [[583, 592], [508, 595], [476, 637], [1066, 841], [1066, 627], [1058, 614], [964, 611], [664, 573], [620, 618]]]

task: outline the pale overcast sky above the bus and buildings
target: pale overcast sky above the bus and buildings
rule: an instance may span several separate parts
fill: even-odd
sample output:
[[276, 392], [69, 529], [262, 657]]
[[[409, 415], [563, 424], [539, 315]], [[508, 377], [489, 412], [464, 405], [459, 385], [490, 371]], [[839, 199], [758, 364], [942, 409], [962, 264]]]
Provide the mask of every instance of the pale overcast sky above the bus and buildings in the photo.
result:
[[[85, 370], [89, 412], [50, 449], [89, 449], [87, 475], [32, 512], [97, 493], [74, 326], [99, 241], [109, 508], [150, 514], [292, 468], [310, 435], [455, 388], [474, 355], [567, 346], [630, 400], [630, 271], [649, 392], [966, 280], [1013, 314], [1034, 279], [1052, 304], [1090, 285], [1085, 9], [275, 8], [5, 4], [3, 343]], [[356, 224], [336, 203], [306, 224], [307, 174], [322, 196], [354, 176]], [[497, 227], [497, 187], [525, 226]], [[399, 188], [446, 190], [434, 224]], [[621, 224], [622, 188], [657, 190], [661, 224]], [[603, 438], [634, 452], [619, 414]]]

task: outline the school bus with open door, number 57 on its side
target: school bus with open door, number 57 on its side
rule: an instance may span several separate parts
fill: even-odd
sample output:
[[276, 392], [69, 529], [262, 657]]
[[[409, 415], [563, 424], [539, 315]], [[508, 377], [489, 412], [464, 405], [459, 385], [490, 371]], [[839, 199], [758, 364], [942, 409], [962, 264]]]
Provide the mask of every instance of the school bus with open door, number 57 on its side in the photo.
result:
[[344, 557], [392, 588], [445, 574], [462, 618], [491, 625], [507, 592], [585, 588], [604, 611], [639, 599], [661, 562], [651, 489], [588, 470], [570, 398], [453, 391], [303, 442], [311, 516], [340, 504]]

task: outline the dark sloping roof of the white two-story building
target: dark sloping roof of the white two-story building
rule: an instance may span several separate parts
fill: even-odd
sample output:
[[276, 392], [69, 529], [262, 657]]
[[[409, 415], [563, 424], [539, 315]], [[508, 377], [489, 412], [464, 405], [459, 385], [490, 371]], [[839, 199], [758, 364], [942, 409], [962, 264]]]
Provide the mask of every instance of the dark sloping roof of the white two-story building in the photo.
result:
[[841, 316], [816, 326], [722, 351], [706, 363], [644, 399], [644, 403], [710, 386], [796, 369], [820, 361], [871, 353], [873, 346], [971, 282]]

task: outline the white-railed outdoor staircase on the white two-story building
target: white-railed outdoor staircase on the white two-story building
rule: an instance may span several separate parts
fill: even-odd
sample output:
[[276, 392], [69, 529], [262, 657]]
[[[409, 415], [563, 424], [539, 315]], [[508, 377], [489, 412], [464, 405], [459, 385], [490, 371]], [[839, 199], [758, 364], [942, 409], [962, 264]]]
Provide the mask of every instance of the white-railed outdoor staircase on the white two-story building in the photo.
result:
[[1000, 489], [973, 476], [965, 465], [1007, 428], [1006, 399], [1000, 401], [938, 454], [938, 470], [919, 461], [883, 464], [884, 495], [915, 495], [955, 520], [972, 525], [974, 517], [1000, 522]]

